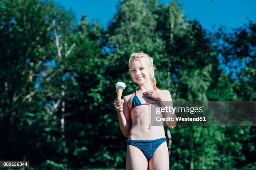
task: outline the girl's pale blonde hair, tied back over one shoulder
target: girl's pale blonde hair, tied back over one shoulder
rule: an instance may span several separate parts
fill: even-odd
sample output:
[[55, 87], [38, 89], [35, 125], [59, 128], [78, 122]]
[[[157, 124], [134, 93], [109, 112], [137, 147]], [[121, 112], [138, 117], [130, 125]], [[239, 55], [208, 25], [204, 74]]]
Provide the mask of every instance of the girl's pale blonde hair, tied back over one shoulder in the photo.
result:
[[130, 59], [129, 59], [130, 76], [131, 76], [131, 61], [132, 60], [141, 61], [143, 59], [145, 59], [144, 61], [146, 63], [146, 69], [148, 70], [149, 75], [150, 75], [151, 84], [154, 88], [157, 89], [157, 87], [156, 87], [156, 78], [154, 77], [155, 67], [153, 65], [153, 58], [149, 57], [147, 54], [145, 54], [141, 51], [135, 51], [130, 56]]

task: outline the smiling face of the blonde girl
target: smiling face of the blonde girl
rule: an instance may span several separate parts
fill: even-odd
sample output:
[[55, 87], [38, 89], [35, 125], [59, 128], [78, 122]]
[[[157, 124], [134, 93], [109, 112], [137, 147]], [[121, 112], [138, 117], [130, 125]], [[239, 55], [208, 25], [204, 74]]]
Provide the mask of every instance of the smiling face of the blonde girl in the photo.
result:
[[143, 60], [131, 60], [131, 77], [138, 85], [142, 85], [150, 80], [149, 72], [146, 69], [146, 64]]

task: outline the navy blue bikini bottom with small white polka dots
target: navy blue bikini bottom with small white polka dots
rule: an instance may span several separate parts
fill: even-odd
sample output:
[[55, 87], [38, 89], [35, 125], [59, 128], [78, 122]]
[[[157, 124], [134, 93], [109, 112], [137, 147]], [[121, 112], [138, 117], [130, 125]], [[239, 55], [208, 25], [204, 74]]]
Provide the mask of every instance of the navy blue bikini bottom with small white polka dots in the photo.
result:
[[128, 140], [127, 145], [132, 145], [141, 150], [149, 161], [154, 155], [156, 149], [164, 142], [167, 142], [166, 138], [159, 138], [156, 140]]

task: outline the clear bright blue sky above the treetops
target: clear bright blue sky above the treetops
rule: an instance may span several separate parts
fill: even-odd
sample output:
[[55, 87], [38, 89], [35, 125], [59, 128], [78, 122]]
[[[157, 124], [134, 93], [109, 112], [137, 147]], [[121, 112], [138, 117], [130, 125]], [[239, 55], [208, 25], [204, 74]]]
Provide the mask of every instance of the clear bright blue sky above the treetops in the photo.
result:
[[[119, 0], [55, 0], [66, 9], [72, 8], [79, 20], [86, 13], [90, 21], [99, 19], [103, 28], [113, 20]], [[159, 0], [162, 4], [171, 0]], [[242, 26], [246, 18], [256, 20], [256, 0], [183, 0], [182, 10], [190, 20], [197, 19], [203, 28], [224, 25], [228, 28]]]

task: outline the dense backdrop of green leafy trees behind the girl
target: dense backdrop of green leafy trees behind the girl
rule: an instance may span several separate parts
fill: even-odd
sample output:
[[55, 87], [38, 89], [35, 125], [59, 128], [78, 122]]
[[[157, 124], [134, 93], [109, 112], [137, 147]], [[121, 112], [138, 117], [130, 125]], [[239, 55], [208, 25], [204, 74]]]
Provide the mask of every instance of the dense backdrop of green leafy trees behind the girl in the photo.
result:
[[[184, 20], [175, 1], [155, 0], [121, 0], [107, 31], [73, 18], [54, 1], [0, 2], [0, 158], [29, 160], [31, 169], [125, 168], [114, 85], [134, 92], [135, 50], [153, 57], [157, 87], [173, 100], [255, 100], [253, 21], [209, 32]], [[255, 131], [176, 127], [171, 169], [255, 169]]]

